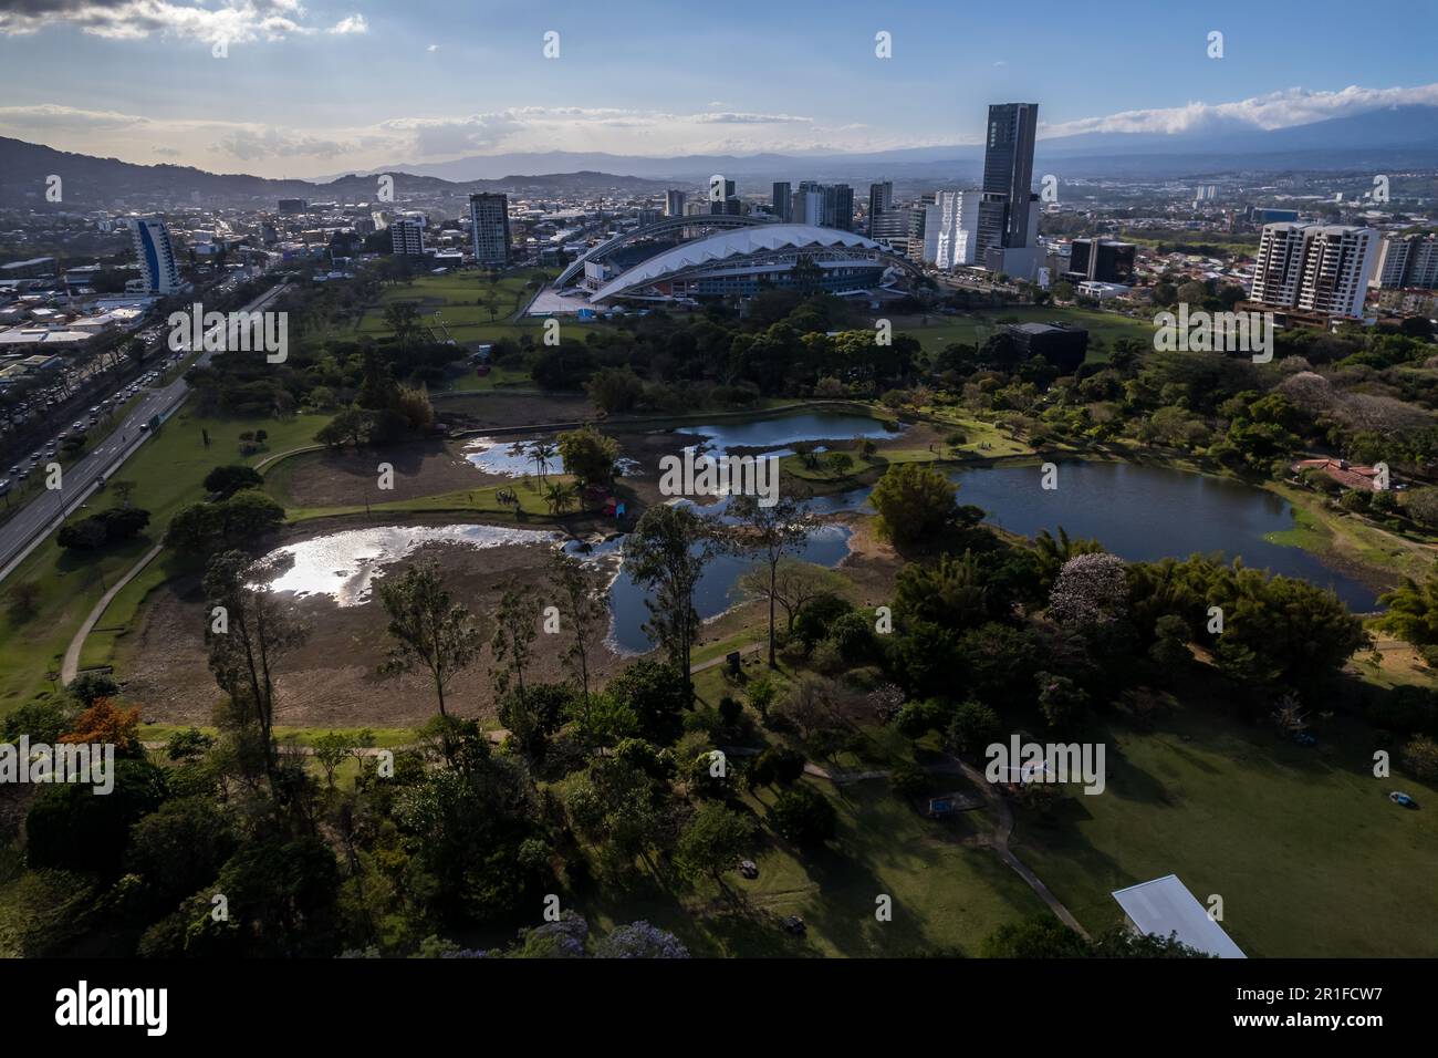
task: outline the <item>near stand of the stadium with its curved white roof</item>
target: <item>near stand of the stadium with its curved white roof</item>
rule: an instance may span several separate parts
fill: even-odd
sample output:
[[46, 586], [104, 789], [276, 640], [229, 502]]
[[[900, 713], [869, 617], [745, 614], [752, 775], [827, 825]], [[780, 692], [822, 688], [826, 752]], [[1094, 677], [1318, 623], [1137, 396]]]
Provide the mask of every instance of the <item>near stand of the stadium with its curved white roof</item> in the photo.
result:
[[[620, 249], [610, 249], [611, 261]], [[585, 271], [592, 273], [595, 263], [591, 256]], [[894, 263], [877, 242], [853, 232], [814, 225], [745, 225], [646, 255], [591, 288], [590, 301], [748, 297], [782, 286], [848, 294], [879, 286]]]

